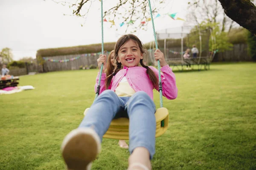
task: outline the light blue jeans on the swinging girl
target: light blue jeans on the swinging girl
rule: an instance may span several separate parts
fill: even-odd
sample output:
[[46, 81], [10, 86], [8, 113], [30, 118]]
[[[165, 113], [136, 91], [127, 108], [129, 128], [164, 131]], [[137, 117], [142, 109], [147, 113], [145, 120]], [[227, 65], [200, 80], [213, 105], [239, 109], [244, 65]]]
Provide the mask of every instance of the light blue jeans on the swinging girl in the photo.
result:
[[112, 119], [129, 117], [129, 151], [145, 147], [150, 159], [155, 153], [156, 106], [144, 91], [131, 97], [119, 97], [114, 91], [105, 90], [87, 111], [79, 127], [93, 127], [102, 140]]

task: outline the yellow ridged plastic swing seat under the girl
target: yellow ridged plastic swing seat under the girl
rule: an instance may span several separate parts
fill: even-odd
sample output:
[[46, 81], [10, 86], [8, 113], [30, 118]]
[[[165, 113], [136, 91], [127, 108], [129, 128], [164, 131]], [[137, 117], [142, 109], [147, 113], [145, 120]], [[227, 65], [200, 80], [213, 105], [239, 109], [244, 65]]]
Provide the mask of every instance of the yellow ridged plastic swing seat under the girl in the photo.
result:
[[[86, 115], [89, 108], [85, 109], [84, 115]], [[156, 113], [156, 137], [161, 136], [166, 132], [169, 122], [169, 112], [166, 108], [158, 108]], [[164, 120], [164, 126], [161, 127], [161, 121]], [[143, 120], [142, 120], [143, 121]], [[129, 119], [118, 118], [113, 119], [108, 131], [103, 136], [109, 139], [129, 139]]]

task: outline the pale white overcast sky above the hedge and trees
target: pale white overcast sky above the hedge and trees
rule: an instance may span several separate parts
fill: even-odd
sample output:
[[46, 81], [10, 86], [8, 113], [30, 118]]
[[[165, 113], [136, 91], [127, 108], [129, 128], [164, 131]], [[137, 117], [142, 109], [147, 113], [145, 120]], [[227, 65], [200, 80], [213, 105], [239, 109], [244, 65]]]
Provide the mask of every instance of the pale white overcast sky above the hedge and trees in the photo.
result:
[[[58, 0], [56, 0], [58, 1]], [[156, 0], [155, 0], [156, 1]], [[188, 0], [166, 0], [167, 5], [160, 14], [175, 13], [186, 19]], [[103, 10], [113, 7], [116, 0], [104, 0]], [[101, 43], [100, 2], [95, 0], [87, 20], [73, 16], [64, 16], [72, 12], [68, 6], [56, 4], [51, 0], [0, 0], [0, 50], [12, 49], [14, 59], [35, 58], [36, 51], [42, 48], [68, 47]], [[180, 27], [185, 22], [161, 16], [154, 20], [155, 29]], [[116, 25], [119, 23], [117, 22]], [[110, 28], [104, 22], [104, 41], [115, 42], [125, 28]], [[143, 43], [154, 40], [151, 23], [148, 30], [137, 31], [136, 35]]]

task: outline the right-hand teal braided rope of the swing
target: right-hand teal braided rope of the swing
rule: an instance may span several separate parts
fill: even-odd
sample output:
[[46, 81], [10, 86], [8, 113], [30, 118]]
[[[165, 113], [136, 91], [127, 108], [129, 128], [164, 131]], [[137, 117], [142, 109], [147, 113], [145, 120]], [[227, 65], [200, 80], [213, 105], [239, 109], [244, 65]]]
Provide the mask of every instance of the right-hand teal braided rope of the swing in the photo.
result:
[[[154, 19], [153, 19], [150, 0], [148, 0], [148, 5], [149, 5], [149, 10], [150, 10], [152, 26], [153, 26], [154, 40], [155, 40], [155, 44], [156, 44], [156, 49], [158, 49], [157, 35], [156, 35], [155, 28], [154, 28]], [[158, 68], [158, 79], [159, 79], [160, 107], [163, 108], [163, 91], [162, 91], [162, 80], [161, 80], [160, 61], [159, 60], [157, 60], [157, 68]], [[163, 127], [163, 126], [164, 126], [164, 121], [162, 120], [161, 121], [161, 127]]]

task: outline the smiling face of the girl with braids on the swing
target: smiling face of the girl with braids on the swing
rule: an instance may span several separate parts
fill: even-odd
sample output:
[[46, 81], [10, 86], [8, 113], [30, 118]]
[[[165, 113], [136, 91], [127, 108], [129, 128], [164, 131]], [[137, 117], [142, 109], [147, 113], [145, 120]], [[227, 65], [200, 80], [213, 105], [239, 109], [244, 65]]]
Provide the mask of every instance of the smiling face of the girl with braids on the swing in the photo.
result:
[[117, 61], [126, 67], [138, 66], [140, 59], [143, 59], [143, 54], [133, 40], [128, 40], [118, 51]]

